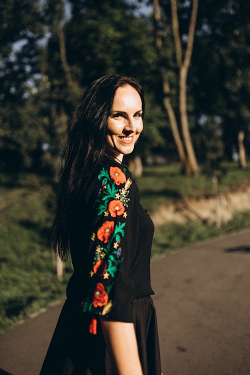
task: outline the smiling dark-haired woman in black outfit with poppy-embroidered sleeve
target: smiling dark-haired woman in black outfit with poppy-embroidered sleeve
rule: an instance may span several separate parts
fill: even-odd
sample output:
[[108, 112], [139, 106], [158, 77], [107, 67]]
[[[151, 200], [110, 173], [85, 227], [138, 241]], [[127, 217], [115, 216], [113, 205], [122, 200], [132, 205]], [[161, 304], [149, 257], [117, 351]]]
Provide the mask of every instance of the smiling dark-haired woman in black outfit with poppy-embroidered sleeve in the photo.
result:
[[41, 375], [161, 373], [153, 223], [122, 164], [143, 111], [141, 86], [110, 74], [88, 87], [70, 122], [52, 239], [61, 258], [70, 250], [74, 272]]

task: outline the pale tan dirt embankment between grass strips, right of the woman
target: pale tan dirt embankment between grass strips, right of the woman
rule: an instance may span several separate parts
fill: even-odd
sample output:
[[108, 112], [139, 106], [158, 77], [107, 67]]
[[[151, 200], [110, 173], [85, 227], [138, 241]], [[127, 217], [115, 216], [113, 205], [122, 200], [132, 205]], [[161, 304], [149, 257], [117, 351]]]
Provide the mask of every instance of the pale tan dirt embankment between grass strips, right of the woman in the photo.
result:
[[150, 214], [155, 225], [167, 221], [208, 221], [220, 225], [230, 220], [236, 211], [250, 210], [250, 186], [241, 185], [225, 194], [167, 201]]

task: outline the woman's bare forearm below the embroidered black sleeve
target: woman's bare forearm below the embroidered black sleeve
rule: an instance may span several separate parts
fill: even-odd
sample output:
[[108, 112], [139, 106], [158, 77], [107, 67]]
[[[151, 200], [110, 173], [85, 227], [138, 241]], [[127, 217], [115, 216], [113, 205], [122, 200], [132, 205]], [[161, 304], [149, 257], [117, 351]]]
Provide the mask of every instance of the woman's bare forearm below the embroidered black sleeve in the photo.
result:
[[143, 375], [133, 323], [101, 319], [101, 327], [118, 375]]

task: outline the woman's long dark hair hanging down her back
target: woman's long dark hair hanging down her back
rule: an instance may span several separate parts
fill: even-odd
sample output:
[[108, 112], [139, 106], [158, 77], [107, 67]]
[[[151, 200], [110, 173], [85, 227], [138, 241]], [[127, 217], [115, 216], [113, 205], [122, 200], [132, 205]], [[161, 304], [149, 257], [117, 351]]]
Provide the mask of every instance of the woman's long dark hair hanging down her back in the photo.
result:
[[130, 77], [108, 74], [89, 85], [69, 121], [51, 238], [54, 251], [63, 260], [69, 253], [69, 223], [73, 207], [79, 196], [84, 194], [84, 181], [101, 164], [114, 94], [118, 87], [125, 85], [138, 92], [144, 112], [140, 84]]

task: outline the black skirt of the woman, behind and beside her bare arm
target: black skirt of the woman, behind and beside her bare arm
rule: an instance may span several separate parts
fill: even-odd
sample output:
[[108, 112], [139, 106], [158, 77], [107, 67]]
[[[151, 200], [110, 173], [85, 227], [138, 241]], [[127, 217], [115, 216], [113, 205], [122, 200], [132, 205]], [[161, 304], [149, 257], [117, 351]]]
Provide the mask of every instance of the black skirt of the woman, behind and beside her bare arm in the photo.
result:
[[[156, 313], [150, 296], [132, 302], [133, 322], [143, 375], [160, 375]], [[91, 316], [66, 299], [45, 356], [40, 375], [114, 375], [100, 323], [90, 334]]]

